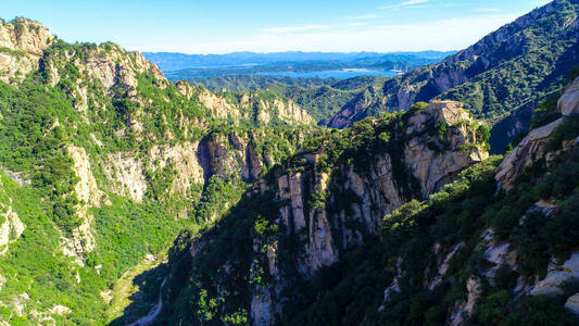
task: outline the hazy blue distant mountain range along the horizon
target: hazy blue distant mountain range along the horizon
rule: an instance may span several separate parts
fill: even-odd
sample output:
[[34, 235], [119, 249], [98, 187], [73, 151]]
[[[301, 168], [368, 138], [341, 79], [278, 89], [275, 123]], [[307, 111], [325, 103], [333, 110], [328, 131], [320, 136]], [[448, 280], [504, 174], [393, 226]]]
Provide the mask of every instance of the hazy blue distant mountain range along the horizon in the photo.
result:
[[277, 53], [253, 53], [234, 52], [228, 54], [185, 54], [171, 52], [143, 52], [144, 58], [155, 63], [163, 72], [180, 71], [193, 67], [223, 67], [243, 65], [265, 65], [275, 63], [300, 63], [300, 62], [333, 62], [354, 63], [357, 61], [380, 62], [407, 62], [407, 63], [431, 63], [437, 62], [454, 51], [438, 52], [277, 52]]

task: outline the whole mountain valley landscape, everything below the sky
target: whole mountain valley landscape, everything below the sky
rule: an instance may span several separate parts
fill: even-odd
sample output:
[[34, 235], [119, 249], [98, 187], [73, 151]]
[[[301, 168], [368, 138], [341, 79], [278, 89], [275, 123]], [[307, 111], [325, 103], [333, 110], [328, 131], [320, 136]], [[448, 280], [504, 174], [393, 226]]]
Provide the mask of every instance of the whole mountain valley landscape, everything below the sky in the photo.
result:
[[0, 326], [579, 325], [578, 16], [230, 54], [0, 20]]

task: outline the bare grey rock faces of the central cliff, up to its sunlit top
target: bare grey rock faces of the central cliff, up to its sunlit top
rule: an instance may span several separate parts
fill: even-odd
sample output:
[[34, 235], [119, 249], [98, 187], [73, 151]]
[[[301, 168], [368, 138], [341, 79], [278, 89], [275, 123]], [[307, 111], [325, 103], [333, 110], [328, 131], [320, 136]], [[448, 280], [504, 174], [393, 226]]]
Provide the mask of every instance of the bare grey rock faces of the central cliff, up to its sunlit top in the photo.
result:
[[[440, 139], [429, 130], [441, 124], [449, 127]], [[311, 279], [322, 267], [337, 263], [341, 251], [361, 246], [367, 236], [379, 234], [382, 217], [408, 199], [401, 189], [403, 185], [397, 180], [393, 164], [408, 166], [407, 173], [418, 184], [418, 198], [427, 198], [451, 183], [462, 170], [488, 158], [486, 150], [476, 145], [473, 124], [461, 103], [435, 102], [411, 117], [401, 131], [406, 137], [401, 163], [394, 162], [401, 158], [386, 152], [372, 160], [366, 168], [356, 168], [354, 163], [324, 173], [319, 167], [324, 164], [324, 151], [304, 153], [303, 159], [311, 167], [279, 175], [275, 184], [264, 189], [263, 184], [259, 184], [256, 191], [276, 193], [276, 201], [280, 203], [276, 224], [287, 233], [275, 242], [254, 243], [254, 254], [260, 255], [262, 246], [282, 251], [278, 243], [287, 241], [303, 243], [303, 248], [297, 261], [267, 255], [268, 263], [264, 267], [273, 283], [254, 290], [251, 309], [254, 321], [272, 325], [272, 315], [279, 318], [284, 300], [272, 302], [264, 298], [279, 298], [291, 285], [292, 280], [284, 278], [280, 271], [295, 268], [303, 279]], [[438, 147], [429, 146], [431, 142]], [[450, 147], [445, 148], [444, 143]], [[461, 145], [471, 147], [464, 151], [450, 149]], [[285, 240], [286, 237], [294, 240]]]

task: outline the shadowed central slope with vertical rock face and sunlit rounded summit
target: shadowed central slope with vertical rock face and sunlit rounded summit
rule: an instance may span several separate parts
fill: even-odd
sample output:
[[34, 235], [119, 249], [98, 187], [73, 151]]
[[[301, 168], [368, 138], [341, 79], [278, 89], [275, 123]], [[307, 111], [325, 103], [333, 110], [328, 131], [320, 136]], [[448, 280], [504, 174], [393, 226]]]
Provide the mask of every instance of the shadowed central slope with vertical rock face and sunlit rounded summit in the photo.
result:
[[287, 321], [385, 214], [484, 160], [483, 129], [460, 103], [435, 102], [313, 139], [215, 228], [177, 240], [163, 323]]

